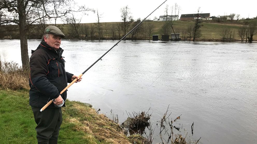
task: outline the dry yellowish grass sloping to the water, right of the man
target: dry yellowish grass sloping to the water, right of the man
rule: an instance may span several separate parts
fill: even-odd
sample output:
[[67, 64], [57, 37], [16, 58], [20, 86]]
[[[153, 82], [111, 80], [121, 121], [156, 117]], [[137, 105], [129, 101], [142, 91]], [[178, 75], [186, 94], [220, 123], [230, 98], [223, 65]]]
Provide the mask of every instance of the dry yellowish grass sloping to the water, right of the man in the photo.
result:
[[80, 102], [66, 101], [66, 103], [66, 107], [63, 108], [66, 114], [65, 121], [74, 123], [76, 130], [91, 133], [100, 142], [130, 144], [120, 126], [105, 115], [97, 114], [95, 109]]

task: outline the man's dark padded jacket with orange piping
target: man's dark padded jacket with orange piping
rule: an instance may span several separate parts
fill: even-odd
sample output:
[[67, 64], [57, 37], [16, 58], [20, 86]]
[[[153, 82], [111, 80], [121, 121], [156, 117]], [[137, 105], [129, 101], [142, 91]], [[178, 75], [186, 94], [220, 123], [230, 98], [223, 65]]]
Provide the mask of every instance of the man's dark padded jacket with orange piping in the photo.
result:
[[[44, 41], [41, 41], [35, 51], [32, 50], [29, 80], [31, 106], [42, 108], [50, 100], [59, 97], [60, 92], [67, 86], [67, 82], [72, 82], [73, 74], [65, 71], [62, 52], [61, 48], [54, 50]], [[66, 100], [67, 91], [61, 96]], [[48, 107], [55, 106], [52, 103]]]

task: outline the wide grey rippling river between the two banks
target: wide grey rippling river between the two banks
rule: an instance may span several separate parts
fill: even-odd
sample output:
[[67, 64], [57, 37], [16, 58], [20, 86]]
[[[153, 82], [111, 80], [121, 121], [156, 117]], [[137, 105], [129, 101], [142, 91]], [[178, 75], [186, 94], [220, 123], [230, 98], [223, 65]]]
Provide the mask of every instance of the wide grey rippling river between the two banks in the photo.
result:
[[[117, 41], [62, 41], [66, 71], [81, 74]], [[29, 40], [29, 57], [40, 41]], [[2, 60], [21, 65], [19, 40], [0, 40]], [[68, 99], [100, 113], [148, 111], [156, 126], [170, 120], [199, 143], [257, 142], [257, 43], [122, 41], [68, 89]], [[112, 113], [111, 113], [112, 111]], [[194, 134], [191, 125], [194, 122]]]

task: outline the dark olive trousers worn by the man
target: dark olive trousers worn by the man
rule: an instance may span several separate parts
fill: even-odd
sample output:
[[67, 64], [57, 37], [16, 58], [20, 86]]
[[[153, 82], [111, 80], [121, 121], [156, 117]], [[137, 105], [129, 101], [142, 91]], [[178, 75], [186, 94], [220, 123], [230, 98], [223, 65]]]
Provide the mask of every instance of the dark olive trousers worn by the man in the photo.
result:
[[31, 107], [37, 124], [38, 144], [57, 144], [60, 126], [62, 124], [61, 108], [46, 108], [41, 113], [41, 108]]

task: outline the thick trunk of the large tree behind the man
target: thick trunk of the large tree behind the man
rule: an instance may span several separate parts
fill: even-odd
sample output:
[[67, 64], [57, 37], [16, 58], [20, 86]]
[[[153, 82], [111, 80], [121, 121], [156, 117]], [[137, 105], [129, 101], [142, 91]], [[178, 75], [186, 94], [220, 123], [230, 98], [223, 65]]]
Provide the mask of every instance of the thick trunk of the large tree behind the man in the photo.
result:
[[23, 0], [18, 0], [19, 13], [19, 31], [20, 31], [20, 52], [22, 57], [22, 67], [25, 70], [29, 69], [28, 59], [28, 40], [27, 40], [27, 26], [26, 26], [26, 11]]

